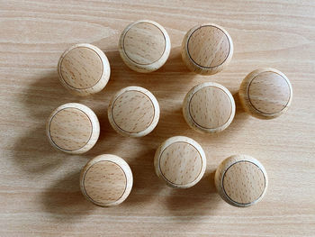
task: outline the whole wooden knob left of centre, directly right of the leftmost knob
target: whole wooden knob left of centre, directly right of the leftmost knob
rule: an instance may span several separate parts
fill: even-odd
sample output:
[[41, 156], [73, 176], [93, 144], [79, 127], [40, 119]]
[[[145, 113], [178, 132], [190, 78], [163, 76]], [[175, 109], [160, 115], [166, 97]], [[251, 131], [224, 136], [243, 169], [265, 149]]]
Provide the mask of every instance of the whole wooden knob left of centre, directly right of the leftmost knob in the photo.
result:
[[121, 135], [145, 136], [157, 126], [157, 99], [145, 88], [125, 87], [112, 97], [108, 119], [112, 128]]

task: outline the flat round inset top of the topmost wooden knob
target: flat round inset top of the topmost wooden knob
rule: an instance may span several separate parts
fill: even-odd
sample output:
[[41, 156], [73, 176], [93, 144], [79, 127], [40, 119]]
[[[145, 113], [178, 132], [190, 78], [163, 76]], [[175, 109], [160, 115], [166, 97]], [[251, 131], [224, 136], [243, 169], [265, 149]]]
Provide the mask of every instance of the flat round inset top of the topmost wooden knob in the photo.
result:
[[136, 23], [123, 38], [123, 50], [137, 64], [154, 63], [162, 57], [165, 48], [164, 34], [153, 23]]

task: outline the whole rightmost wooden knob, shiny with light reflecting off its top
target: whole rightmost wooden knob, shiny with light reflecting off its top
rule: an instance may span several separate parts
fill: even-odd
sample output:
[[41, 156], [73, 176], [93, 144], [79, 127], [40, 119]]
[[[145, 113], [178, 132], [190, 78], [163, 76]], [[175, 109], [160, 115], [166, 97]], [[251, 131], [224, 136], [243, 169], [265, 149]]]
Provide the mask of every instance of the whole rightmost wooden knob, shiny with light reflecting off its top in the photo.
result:
[[287, 111], [293, 98], [293, 88], [281, 71], [259, 68], [244, 78], [238, 96], [248, 114], [272, 119]]

